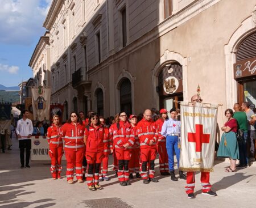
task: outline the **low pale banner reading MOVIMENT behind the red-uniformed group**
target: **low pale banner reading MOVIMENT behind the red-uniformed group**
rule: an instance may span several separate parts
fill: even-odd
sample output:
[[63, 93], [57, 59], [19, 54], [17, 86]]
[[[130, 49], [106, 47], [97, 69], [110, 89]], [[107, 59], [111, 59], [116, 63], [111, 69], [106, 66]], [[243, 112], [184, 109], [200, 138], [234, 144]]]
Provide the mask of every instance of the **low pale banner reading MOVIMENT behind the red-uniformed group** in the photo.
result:
[[[31, 160], [49, 160], [49, 145], [44, 137], [31, 137]], [[66, 160], [65, 154], [62, 160]]]

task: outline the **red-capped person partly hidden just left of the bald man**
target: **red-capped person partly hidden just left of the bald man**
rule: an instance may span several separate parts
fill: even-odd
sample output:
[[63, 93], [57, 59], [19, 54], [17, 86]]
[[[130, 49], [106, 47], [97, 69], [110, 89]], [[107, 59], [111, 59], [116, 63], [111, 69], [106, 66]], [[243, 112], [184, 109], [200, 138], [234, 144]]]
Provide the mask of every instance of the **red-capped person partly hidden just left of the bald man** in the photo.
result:
[[141, 175], [139, 175], [139, 158], [140, 158], [140, 151], [139, 151], [139, 137], [137, 134], [137, 116], [136, 115], [130, 115], [129, 117], [131, 129], [134, 132], [134, 145], [131, 147], [131, 159], [129, 162], [129, 178], [133, 179], [133, 173], [136, 173], [137, 179], [141, 178]]

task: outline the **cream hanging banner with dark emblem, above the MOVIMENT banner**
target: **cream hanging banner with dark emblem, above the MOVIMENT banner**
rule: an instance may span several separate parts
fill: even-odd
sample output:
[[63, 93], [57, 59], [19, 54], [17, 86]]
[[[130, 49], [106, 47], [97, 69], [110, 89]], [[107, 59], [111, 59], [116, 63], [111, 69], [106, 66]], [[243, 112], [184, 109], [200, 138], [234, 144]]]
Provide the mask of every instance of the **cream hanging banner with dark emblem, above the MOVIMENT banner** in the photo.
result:
[[51, 88], [42, 86], [31, 88], [31, 94], [34, 120], [43, 121], [44, 118], [49, 120]]

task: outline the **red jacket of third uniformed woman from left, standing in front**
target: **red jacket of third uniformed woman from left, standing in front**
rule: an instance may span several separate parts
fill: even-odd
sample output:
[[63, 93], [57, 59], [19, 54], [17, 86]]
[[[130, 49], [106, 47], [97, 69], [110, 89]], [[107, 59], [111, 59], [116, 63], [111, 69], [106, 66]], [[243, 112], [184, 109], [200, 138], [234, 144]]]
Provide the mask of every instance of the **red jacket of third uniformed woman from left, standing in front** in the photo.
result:
[[85, 128], [84, 135], [87, 137], [86, 152], [103, 152], [104, 151], [104, 128], [92, 125]]

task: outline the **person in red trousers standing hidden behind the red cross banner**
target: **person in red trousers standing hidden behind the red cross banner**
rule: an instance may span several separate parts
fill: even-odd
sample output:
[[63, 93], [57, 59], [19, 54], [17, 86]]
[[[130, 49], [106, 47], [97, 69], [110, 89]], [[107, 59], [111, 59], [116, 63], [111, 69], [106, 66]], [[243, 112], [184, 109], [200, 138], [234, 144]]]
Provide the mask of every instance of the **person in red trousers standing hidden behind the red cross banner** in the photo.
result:
[[[191, 97], [192, 103], [201, 103], [203, 100], [200, 95], [193, 95]], [[195, 189], [195, 175], [196, 172], [188, 171], [187, 172], [187, 186], [185, 186], [185, 191], [188, 194], [188, 198], [195, 198], [194, 189]], [[217, 194], [212, 191], [212, 185], [210, 185], [210, 173], [209, 172], [201, 172], [201, 185], [203, 186], [203, 194], [215, 197]]]

